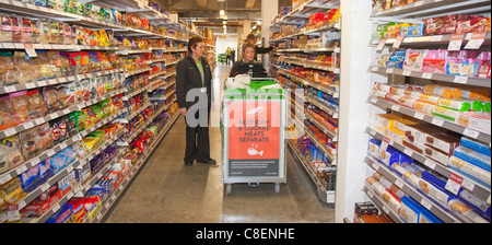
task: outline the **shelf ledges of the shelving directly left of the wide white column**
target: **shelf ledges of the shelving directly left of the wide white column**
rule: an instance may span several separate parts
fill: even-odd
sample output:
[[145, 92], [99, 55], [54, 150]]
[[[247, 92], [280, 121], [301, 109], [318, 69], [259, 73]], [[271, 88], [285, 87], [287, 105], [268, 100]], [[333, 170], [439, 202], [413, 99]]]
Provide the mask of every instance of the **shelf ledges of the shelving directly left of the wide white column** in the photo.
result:
[[[337, 9], [339, 7], [340, 1], [338, 0], [306, 1], [297, 9], [294, 9], [291, 13], [286, 14], [283, 18], [280, 18], [277, 22], [272, 23], [272, 25], [270, 26], [270, 31], [273, 33], [278, 33], [284, 25], [307, 24], [309, 15], [320, 12], [326, 13], [328, 10]], [[292, 69], [301, 68], [301, 69], [311, 69], [314, 73], [316, 72], [327, 72], [330, 74], [340, 73], [339, 62], [337, 61], [339, 59], [340, 46], [321, 42], [321, 36], [324, 35], [324, 33], [327, 32], [339, 33], [340, 22], [333, 21], [333, 23], [324, 23], [317, 26], [306, 25], [305, 27], [298, 28], [294, 33], [288, 34], [280, 33], [280, 35], [274, 35], [277, 37], [270, 38], [270, 44], [274, 44], [277, 46], [277, 54], [274, 55], [277, 58], [272, 59], [270, 57], [270, 67], [272, 69], [272, 73], [277, 74], [278, 80], [285, 79], [291, 83], [289, 85], [283, 84], [284, 89], [291, 89], [292, 103], [290, 107], [292, 108], [292, 110], [294, 109], [296, 110], [295, 115], [292, 116], [293, 118], [291, 118], [291, 121], [295, 125], [295, 128], [298, 128], [300, 130], [302, 128], [301, 131], [304, 132], [304, 136], [307, 139], [309, 139], [311, 142], [314, 145], [316, 145], [316, 148], [319, 149], [319, 151], [324, 153], [324, 155], [328, 160], [328, 164], [331, 167], [336, 168], [336, 166], [338, 165], [338, 158], [336, 150], [329, 149], [329, 147], [326, 145], [324, 142], [321, 142], [321, 140], [318, 139], [318, 137], [315, 136], [312, 131], [309, 131], [307, 126], [305, 126], [304, 124], [312, 122], [313, 125], [315, 125], [317, 129], [319, 129], [323, 133], [326, 133], [326, 136], [329, 137], [330, 141], [333, 144], [337, 144], [338, 132], [337, 130], [330, 130], [327, 126], [325, 126], [325, 122], [320, 121], [314, 115], [311, 115], [309, 112], [305, 110], [304, 103], [307, 103], [307, 105], [309, 106], [315, 106], [317, 109], [324, 110], [330, 117], [337, 119], [338, 110], [336, 108], [332, 108], [327, 103], [323, 102], [320, 98], [317, 98], [316, 96], [312, 96], [311, 94], [308, 94], [307, 90], [314, 89], [316, 91], [321, 91], [323, 93], [326, 93], [327, 95], [337, 100], [339, 97], [338, 83], [333, 82], [333, 84], [330, 85], [321, 84], [321, 82], [318, 80], [306, 78], [291, 71], [291, 68]], [[296, 38], [298, 39], [303, 37], [319, 38], [320, 42], [313, 46], [306, 46], [306, 44], [291, 43], [293, 39]], [[295, 54], [301, 56], [307, 56], [309, 54], [318, 56], [330, 56], [333, 61], [330, 65], [326, 65], [325, 61], [323, 62], [315, 60], [309, 61], [305, 57], [297, 58]], [[297, 91], [294, 93], [294, 89], [301, 89], [302, 95], [296, 94], [298, 93]], [[303, 107], [302, 109], [296, 105], [296, 103], [298, 103], [300, 100], [302, 101], [302, 104], [300, 104], [300, 106]], [[301, 168], [304, 170], [311, 176], [311, 179], [313, 180], [312, 183], [315, 185], [317, 189], [317, 195], [319, 199], [326, 203], [335, 205], [336, 191], [331, 189], [328, 190], [326, 183], [324, 183], [319, 176], [323, 175], [324, 171], [315, 170], [313, 164], [309, 163], [309, 160], [300, 152], [295, 143], [295, 140], [289, 140], [288, 142], [289, 149], [295, 156]]]

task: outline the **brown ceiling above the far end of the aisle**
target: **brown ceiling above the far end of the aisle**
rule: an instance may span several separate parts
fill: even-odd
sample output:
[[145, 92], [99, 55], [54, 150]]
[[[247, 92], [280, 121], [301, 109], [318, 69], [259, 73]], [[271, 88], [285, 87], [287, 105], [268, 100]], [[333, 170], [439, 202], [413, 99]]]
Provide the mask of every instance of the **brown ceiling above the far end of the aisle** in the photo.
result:
[[[269, 0], [271, 1], [271, 0]], [[273, 0], [274, 1], [274, 0]], [[277, 0], [279, 7], [291, 5], [292, 0]], [[261, 21], [261, 0], [150, 0], [169, 13], [178, 13], [179, 20], [192, 21], [198, 27], [209, 27], [215, 35], [223, 34], [224, 18], [219, 11], [225, 10], [227, 34], [236, 34], [244, 20], [253, 25]], [[277, 10], [278, 11], [278, 10]]]

